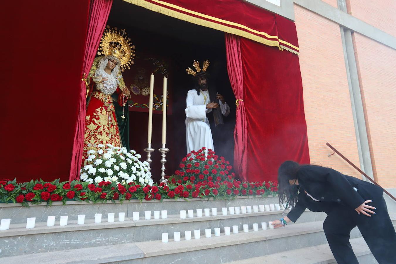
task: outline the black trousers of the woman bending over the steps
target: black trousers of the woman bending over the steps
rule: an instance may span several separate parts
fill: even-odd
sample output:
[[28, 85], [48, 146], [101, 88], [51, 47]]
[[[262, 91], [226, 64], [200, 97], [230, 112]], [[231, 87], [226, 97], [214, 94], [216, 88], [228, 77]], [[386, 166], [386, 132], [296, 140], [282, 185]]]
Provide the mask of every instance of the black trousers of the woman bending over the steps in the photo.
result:
[[339, 264], [359, 264], [349, 243], [350, 231], [358, 226], [371, 253], [379, 264], [396, 263], [396, 233], [390, 220], [385, 199], [368, 203], [376, 214], [367, 217], [354, 209], [335, 205], [323, 223], [331, 252]]

